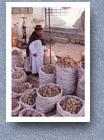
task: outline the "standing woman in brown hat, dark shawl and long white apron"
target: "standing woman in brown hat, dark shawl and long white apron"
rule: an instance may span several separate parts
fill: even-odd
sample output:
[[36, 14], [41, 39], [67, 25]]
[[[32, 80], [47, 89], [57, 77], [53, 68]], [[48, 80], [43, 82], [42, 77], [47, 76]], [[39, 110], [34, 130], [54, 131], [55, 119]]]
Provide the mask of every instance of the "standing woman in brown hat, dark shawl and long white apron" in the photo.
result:
[[43, 28], [41, 25], [36, 25], [35, 31], [30, 36], [28, 47], [26, 49], [27, 57], [30, 57], [30, 67], [32, 74], [38, 74], [40, 67], [43, 66], [44, 52], [47, 51], [46, 44], [41, 38]]

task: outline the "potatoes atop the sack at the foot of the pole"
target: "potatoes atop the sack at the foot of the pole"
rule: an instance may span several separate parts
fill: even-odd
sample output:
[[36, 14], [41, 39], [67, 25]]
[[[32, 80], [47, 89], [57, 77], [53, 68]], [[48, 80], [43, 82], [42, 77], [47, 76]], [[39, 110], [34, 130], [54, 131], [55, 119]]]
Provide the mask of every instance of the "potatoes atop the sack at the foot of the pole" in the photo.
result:
[[46, 66], [42, 67], [41, 70], [43, 72], [45, 72], [46, 74], [54, 74], [55, 66], [53, 66], [53, 65], [46, 65]]

